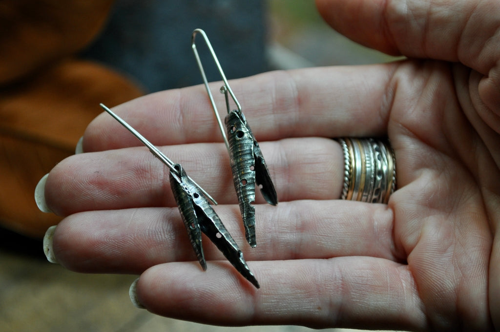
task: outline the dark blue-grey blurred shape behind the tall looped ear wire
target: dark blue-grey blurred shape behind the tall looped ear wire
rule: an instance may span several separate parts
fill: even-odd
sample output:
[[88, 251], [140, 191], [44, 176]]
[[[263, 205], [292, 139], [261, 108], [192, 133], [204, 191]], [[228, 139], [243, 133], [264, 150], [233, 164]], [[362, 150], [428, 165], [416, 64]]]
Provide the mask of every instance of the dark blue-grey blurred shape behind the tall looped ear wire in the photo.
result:
[[[103, 62], [148, 92], [201, 83], [191, 32], [207, 33], [227, 78], [267, 70], [262, 0], [118, 0], [101, 34], [80, 56]], [[210, 81], [219, 80], [204, 58]], [[205, 52], [206, 50], [206, 52]]]

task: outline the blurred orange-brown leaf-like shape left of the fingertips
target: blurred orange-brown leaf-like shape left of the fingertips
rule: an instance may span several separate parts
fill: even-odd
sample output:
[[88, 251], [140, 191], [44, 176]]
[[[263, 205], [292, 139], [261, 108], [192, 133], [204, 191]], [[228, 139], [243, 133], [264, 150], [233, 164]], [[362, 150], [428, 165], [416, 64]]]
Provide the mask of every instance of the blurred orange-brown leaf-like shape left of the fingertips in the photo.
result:
[[5, 0], [0, 3], [0, 223], [40, 237], [60, 220], [40, 212], [38, 180], [74, 147], [99, 102], [113, 106], [142, 91], [127, 78], [72, 54], [101, 28], [112, 1]]

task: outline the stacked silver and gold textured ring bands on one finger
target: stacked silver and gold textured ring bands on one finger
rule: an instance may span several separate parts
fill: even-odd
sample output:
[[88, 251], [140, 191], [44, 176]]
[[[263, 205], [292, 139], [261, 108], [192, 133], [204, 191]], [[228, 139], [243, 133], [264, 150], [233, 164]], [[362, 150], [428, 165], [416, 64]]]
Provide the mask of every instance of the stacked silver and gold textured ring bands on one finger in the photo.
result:
[[344, 155], [342, 199], [387, 203], [396, 186], [394, 152], [374, 138], [339, 138]]

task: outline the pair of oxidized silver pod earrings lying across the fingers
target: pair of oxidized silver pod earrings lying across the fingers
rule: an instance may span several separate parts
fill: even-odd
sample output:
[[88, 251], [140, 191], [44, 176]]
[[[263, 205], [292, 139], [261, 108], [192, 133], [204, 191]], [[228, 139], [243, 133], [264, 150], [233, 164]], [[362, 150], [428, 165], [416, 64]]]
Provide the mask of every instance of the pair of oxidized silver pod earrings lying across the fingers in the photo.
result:
[[[220, 91], [224, 93], [227, 107], [227, 116], [224, 120], [227, 135], [224, 132], [217, 107], [215, 106], [215, 102], [210, 92], [208, 81], [196, 49], [194, 41], [197, 33], [200, 33], [203, 36], [224, 82]], [[233, 182], [245, 229], [245, 237], [250, 246], [254, 247], [256, 246], [255, 208], [252, 203], [255, 200], [255, 185], [260, 187], [262, 196], [269, 204], [272, 205], [276, 205], [278, 203], [276, 191], [260, 147], [258, 146], [248, 123], [246, 122], [246, 119], [241, 111], [241, 106], [234, 96], [215, 52], [213, 51], [210, 41], [203, 30], [195, 29], [192, 32], [191, 47], [198, 63], [198, 67], [220, 127], [224, 143], [230, 156]], [[237, 109], [230, 110], [229, 95], [236, 104]], [[203, 270], [206, 269], [206, 261], [201, 245], [201, 232], [206, 234], [206, 236], [217, 246], [227, 260], [243, 277], [250, 281], [256, 288], [259, 288], [259, 284], [255, 279], [255, 276], [250, 271], [243, 258], [243, 253], [223, 225], [217, 213], [210, 205], [210, 202], [216, 205], [216, 201], [186, 174], [180, 164], [172, 162], [156, 146], [151, 144], [146, 138], [144, 138], [144, 136], [112, 112], [108, 107], [103, 104], [100, 104], [100, 106], [125, 128], [127, 128], [133, 135], [135, 135], [149, 148], [151, 153], [153, 153], [170, 169], [170, 187], [182, 217], [182, 221], [184, 222], [187, 230], [189, 240]]]

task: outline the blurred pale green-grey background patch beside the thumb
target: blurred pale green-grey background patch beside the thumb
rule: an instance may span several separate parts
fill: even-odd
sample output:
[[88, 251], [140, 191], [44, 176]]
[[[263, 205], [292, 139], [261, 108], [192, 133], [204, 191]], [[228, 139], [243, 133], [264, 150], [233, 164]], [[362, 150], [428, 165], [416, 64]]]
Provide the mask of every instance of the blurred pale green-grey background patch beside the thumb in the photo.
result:
[[269, 57], [274, 66], [366, 64], [397, 59], [333, 30], [312, 0], [267, 0], [267, 11]]

